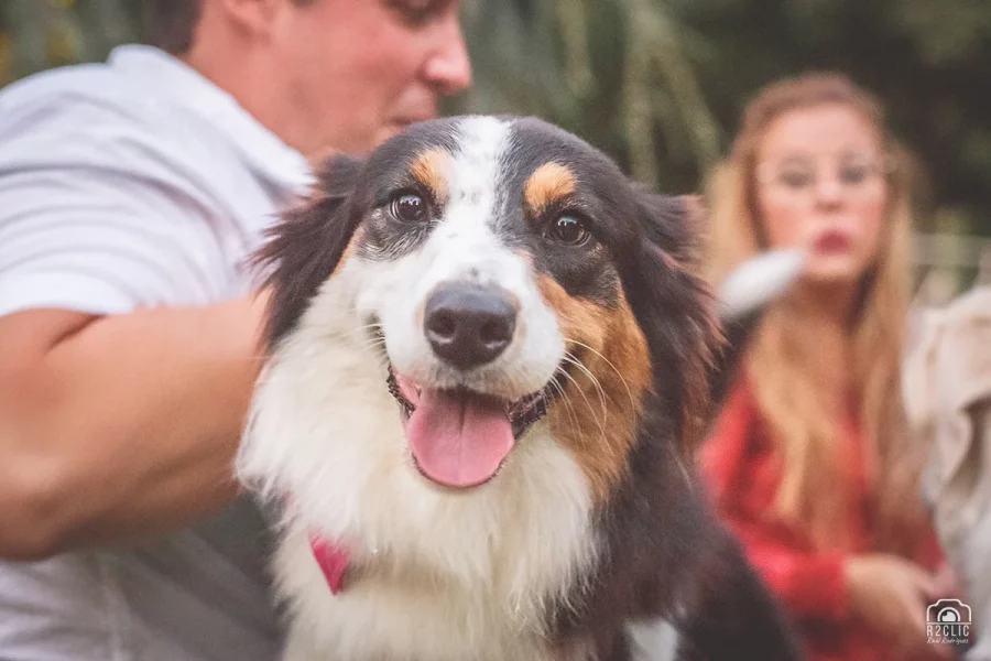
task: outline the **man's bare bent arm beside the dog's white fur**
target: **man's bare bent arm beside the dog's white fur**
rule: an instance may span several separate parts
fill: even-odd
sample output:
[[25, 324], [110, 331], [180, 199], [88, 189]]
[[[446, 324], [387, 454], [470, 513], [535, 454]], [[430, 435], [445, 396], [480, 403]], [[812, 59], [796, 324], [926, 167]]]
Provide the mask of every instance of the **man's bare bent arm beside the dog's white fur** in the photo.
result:
[[262, 310], [0, 317], [0, 556], [129, 543], [228, 503]]

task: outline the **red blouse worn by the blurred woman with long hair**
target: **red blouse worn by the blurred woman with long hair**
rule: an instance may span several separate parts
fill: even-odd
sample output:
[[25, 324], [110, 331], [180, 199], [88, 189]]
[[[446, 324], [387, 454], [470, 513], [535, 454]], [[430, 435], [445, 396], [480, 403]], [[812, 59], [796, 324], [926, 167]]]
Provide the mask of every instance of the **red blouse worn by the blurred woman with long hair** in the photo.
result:
[[[887, 643], [849, 617], [843, 561], [872, 550], [867, 498], [872, 480], [852, 416], [843, 430], [841, 465], [850, 469], [848, 551], [816, 550], [803, 532], [767, 520], [781, 467], [745, 382], [731, 393], [703, 448], [701, 470], [723, 522], [789, 610], [807, 659], [889, 661]], [[935, 535], [921, 546], [916, 562], [934, 570], [940, 560]]]

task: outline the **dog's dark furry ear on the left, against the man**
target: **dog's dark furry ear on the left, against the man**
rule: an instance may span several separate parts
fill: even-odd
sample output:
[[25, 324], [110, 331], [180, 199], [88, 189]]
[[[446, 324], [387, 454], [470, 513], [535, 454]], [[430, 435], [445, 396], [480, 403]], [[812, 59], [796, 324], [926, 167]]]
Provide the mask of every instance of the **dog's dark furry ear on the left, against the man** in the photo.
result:
[[254, 254], [269, 293], [265, 348], [293, 329], [309, 300], [345, 256], [361, 220], [349, 204], [362, 162], [335, 155], [317, 171], [309, 198], [283, 214]]

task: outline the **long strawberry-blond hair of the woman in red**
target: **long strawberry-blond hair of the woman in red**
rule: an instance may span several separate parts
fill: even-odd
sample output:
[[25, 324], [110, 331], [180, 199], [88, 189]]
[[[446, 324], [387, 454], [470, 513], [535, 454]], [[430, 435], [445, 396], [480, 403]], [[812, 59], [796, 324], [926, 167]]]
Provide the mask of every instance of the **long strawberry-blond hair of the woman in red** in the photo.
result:
[[[791, 110], [827, 104], [862, 113], [878, 131], [892, 164], [885, 169], [887, 209], [881, 248], [860, 288], [849, 346], [871, 480], [874, 541], [882, 549], [907, 554], [922, 513], [919, 457], [911, 451], [900, 388], [911, 278], [908, 162], [887, 134], [882, 109], [870, 95], [841, 75], [807, 74], [765, 88], [749, 104], [741, 132], [709, 191], [707, 275], [718, 283], [764, 248], [754, 171], [767, 127]], [[854, 487], [850, 466], [840, 455], [836, 411], [819, 387], [823, 375], [815, 336], [808, 315], [785, 297], [769, 310], [745, 369], [782, 460], [773, 514], [798, 525], [820, 548], [843, 546], [847, 498]]]

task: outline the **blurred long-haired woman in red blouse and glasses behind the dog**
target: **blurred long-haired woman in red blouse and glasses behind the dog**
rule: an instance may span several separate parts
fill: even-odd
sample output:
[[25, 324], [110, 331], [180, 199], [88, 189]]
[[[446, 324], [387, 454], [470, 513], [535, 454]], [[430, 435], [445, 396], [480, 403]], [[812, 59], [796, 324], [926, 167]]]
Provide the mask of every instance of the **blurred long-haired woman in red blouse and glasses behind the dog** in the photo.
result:
[[899, 390], [906, 175], [878, 104], [845, 77], [806, 75], [749, 105], [709, 201], [714, 282], [760, 250], [808, 254], [701, 458], [813, 661], [951, 658], [926, 637], [940, 559]]

